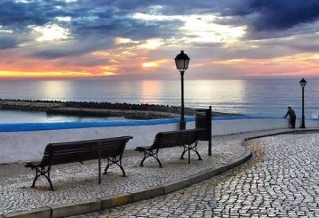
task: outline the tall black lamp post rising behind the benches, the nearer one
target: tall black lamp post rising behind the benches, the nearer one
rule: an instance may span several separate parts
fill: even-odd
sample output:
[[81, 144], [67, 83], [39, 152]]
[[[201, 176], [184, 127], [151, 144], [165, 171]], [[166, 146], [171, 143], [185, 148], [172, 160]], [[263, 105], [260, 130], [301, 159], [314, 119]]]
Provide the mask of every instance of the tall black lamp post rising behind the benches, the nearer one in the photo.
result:
[[180, 71], [180, 82], [182, 87], [182, 105], [180, 109], [180, 129], [185, 129], [186, 122], [184, 118], [184, 72], [189, 68], [189, 56], [184, 53], [184, 51], [180, 51], [180, 53], [175, 57], [175, 64]]

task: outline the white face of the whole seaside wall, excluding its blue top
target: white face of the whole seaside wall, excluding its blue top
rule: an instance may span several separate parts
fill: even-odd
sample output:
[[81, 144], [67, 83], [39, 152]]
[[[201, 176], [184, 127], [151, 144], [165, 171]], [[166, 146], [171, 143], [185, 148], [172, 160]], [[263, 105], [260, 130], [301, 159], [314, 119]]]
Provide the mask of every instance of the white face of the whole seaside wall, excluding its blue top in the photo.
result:
[[[178, 126], [178, 123], [171, 123], [161, 125], [0, 132], [0, 163], [40, 161], [46, 144], [73, 140], [133, 136], [134, 138], [126, 145], [126, 149], [135, 149], [137, 146], [145, 146], [153, 143], [157, 132], [177, 130]], [[300, 120], [297, 120], [296, 127], [299, 126]], [[319, 121], [306, 120], [306, 126], [319, 127]], [[187, 122], [187, 129], [194, 127], [195, 122]], [[212, 122], [213, 136], [282, 128], [288, 128], [288, 119], [237, 119], [214, 120]]]

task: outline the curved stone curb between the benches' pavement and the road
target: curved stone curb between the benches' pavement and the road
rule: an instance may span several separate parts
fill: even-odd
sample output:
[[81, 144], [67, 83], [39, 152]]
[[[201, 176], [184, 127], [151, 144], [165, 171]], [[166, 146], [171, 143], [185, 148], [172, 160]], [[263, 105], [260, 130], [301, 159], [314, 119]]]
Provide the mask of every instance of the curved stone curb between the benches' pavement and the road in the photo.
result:
[[[58, 206], [46, 206], [44, 208], [36, 208], [32, 210], [22, 210], [19, 212], [12, 212], [3, 217], [15, 217], [15, 218], [33, 218], [33, 217], [67, 217], [72, 215], [80, 215], [87, 212], [93, 212], [97, 210], [104, 210], [106, 208], [113, 208], [115, 206], [121, 206], [126, 203], [132, 203], [135, 201], [141, 201], [152, 197], [157, 197], [162, 194], [168, 194], [176, 190], [180, 190], [194, 183], [211, 178], [221, 174], [227, 170], [230, 170], [238, 165], [241, 165], [245, 161], [248, 161], [252, 157], [252, 149], [247, 143], [243, 143], [245, 147], [245, 154], [240, 158], [236, 158], [234, 161], [223, 165], [214, 170], [205, 170], [198, 174], [193, 174], [185, 179], [179, 181], [166, 183], [146, 190], [137, 190], [135, 192], [128, 192], [123, 194], [116, 194], [112, 196], [105, 196], [101, 199], [92, 199], [89, 201], [80, 201], [76, 203], [68, 203]], [[0, 218], [1, 215], [0, 215]]]

